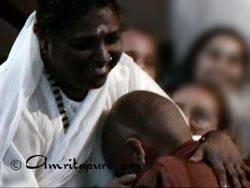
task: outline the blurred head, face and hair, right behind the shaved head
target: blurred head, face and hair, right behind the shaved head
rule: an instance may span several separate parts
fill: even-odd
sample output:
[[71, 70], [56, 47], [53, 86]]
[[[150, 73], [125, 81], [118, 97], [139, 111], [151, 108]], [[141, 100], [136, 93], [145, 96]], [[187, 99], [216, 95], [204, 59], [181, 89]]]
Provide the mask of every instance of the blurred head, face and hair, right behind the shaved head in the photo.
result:
[[177, 89], [172, 97], [185, 113], [194, 136], [199, 138], [209, 131], [229, 128], [228, 105], [217, 88], [193, 83]]

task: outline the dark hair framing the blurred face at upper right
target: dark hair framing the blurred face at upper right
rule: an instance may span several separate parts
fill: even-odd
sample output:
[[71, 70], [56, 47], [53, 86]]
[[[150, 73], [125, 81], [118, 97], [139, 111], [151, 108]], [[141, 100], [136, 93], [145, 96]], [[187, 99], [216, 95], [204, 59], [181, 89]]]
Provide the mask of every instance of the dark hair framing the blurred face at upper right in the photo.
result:
[[248, 44], [241, 33], [230, 27], [215, 27], [205, 33], [203, 33], [189, 48], [186, 58], [184, 59], [183, 66], [181, 67], [182, 81], [191, 82], [194, 81], [194, 71], [197, 66], [197, 57], [205, 46], [215, 37], [218, 36], [229, 36], [239, 41], [243, 50], [243, 63], [247, 66], [249, 55], [248, 55]]

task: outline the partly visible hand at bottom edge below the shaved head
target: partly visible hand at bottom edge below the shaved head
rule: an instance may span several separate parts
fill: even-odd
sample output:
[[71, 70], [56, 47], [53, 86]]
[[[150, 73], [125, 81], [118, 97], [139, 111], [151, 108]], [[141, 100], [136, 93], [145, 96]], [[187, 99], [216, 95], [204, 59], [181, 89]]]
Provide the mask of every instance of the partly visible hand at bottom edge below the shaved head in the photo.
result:
[[136, 175], [129, 174], [122, 176], [120, 178], [114, 178], [108, 184], [108, 187], [121, 187], [121, 188], [128, 188], [131, 187], [132, 183], [135, 181]]

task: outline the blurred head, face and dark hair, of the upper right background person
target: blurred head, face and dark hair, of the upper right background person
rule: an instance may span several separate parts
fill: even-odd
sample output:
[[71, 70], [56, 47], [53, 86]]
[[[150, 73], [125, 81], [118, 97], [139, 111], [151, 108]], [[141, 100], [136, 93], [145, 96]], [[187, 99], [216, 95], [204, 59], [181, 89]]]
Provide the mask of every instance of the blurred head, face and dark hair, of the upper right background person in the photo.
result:
[[183, 64], [183, 80], [205, 81], [235, 92], [247, 76], [248, 46], [234, 29], [217, 27], [191, 46]]

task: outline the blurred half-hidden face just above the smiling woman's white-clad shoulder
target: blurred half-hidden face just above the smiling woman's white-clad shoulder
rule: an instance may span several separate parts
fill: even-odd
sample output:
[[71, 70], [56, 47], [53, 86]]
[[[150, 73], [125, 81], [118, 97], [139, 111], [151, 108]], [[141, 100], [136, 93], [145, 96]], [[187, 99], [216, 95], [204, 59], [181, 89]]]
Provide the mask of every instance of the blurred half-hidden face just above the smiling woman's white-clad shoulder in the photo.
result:
[[157, 52], [153, 39], [136, 31], [126, 31], [122, 34], [122, 42], [124, 52], [153, 79], [156, 79]]

